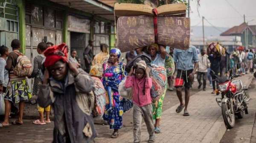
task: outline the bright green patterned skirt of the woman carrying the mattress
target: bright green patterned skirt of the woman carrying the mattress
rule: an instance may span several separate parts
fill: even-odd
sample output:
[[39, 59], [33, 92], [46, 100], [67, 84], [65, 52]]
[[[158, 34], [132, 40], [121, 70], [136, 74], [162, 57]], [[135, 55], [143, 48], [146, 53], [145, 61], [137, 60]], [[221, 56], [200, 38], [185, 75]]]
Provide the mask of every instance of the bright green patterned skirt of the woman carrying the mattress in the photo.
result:
[[152, 103], [153, 103], [153, 120], [160, 119], [162, 116], [163, 99], [166, 94], [166, 90], [167, 90], [167, 83], [164, 86], [164, 92], [163, 92], [163, 95], [161, 96], [161, 98], [157, 101], [152, 101]]

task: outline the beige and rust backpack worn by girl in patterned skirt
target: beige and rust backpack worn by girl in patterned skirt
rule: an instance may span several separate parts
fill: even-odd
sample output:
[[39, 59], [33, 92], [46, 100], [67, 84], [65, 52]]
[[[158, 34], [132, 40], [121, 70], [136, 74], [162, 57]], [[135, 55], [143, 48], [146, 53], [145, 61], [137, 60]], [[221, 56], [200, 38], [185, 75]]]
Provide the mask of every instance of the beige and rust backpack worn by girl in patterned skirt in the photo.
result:
[[15, 75], [20, 77], [31, 76], [33, 69], [30, 59], [24, 56], [22, 53], [16, 54], [18, 55], [17, 65], [13, 69]]

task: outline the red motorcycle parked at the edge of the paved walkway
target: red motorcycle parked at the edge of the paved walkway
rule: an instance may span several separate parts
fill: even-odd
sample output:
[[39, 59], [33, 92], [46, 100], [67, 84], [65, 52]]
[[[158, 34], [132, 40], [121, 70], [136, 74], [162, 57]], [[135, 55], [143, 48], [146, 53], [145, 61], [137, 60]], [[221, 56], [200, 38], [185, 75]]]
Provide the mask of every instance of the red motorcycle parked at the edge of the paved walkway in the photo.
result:
[[227, 76], [218, 77], [213, 71], [210, 73], [216, 77], [215, 81], [218, 84], [217, 95], [221, 93], [221, 97], [217, 97], [216, 102], [221, 107], [224, 123], [228, 129], [232, 129], [235, 126], [235, 115], [241, 119], [244, 117], [244, 112], [248, 114], [246, 104], [250, 99], [247, 94], [248, 89], [245, 88], [246, 86], [243, 85], [241, 80], [234, 80], [243, 76], [244, 73], [233, 75], [229, 78]]

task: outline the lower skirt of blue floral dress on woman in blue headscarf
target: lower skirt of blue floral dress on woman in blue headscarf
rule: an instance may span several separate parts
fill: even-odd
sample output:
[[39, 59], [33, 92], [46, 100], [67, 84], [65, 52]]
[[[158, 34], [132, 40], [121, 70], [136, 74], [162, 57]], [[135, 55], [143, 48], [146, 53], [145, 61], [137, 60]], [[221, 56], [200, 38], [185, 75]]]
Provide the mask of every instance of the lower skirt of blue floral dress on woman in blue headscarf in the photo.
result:
[[[110, 129], [121, 129], [123, 120], [123, 105], [122, 105], [122, 96], [118, 92], [111, 91], [111, 103], [108, 99], [108, 93], [106, 91], [106, 100], [107, 104], [105, 107], [105, 113], [103, 119], [108, 122]], [[110, 106], [111, 104], [111, 106]]]

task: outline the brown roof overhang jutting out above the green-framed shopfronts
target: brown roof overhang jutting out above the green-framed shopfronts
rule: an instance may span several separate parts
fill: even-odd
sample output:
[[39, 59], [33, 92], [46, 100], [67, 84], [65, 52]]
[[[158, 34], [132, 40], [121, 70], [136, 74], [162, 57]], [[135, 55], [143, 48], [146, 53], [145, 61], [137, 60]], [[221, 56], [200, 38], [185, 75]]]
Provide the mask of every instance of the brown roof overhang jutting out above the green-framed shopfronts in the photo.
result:
[[50, 0], [55, 3], [75, 8], [80, 11], [88, 12], [96, 16], [114, 20], [114, 8], [99, 0]]

